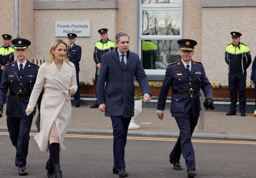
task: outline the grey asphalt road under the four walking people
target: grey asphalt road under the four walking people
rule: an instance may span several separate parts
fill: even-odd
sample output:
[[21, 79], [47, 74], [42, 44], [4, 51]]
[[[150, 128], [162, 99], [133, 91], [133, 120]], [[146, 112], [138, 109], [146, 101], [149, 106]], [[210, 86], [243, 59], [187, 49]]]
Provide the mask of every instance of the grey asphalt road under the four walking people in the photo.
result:
[[[6, 130], [0, 131], [0, 177], [18, 178], [14, 165], [15, 147]], [[49, 153], [41, 152], [31, 134], [27, 158], [27, 178], [46, 178]], [[193, 139], [197, 178], [256, 177], [255, 141]], [[126, 170], [133, 178], [185, 178], [184, 170], [173, 170], [169, 154], [175, 139], [164, 136], [129, 135], [125, 148]], [[113, 139], [111, 134], [67, 133], [66, 150], [60, 152], [63, 178], [117, 178], [112, 174]]]

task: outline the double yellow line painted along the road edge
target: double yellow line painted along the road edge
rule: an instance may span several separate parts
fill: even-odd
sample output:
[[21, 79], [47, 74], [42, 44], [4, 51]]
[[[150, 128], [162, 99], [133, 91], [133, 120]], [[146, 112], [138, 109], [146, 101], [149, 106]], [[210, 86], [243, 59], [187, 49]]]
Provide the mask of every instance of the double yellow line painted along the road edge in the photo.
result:
[[[37, 133], [30, 133], [30, 136], [35, 136]], [[0, 132], [0, 135], [9, 135], [8, 132]], [[78, 134], [66, 134], [66, 137], [73, 138], [94, 138], [94, 139], [113, 139], [113, 136], [107, 135], [78, 135]], [[128, 140], [154, 140], [154, 141], [177, 141], [177, 139], [171, 138], [159, 138], [159, 137], [127, 137]], [[225, 144], [245, 144], [256, 145], [253, 141], [231, 141], [231, 140], [198, 140], [192, 139], [192, 142], [196, 143], [225, 143]]]

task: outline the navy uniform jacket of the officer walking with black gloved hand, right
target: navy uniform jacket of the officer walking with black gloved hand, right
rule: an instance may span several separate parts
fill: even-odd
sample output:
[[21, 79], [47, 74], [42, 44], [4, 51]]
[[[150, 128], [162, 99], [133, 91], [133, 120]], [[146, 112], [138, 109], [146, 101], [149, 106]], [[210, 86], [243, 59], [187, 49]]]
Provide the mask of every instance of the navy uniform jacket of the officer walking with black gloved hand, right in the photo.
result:
[[[157, 110], [164, 110], [170, 87], [172, 87], [172, 89], [195, 89], [195, 87], [190, 84], [188, 78], [184, 75], [185, 72], [187, 73], [187, 70], [181, 59], [167, 67], [163, 85], [158, 96]], [[200, 62], [191, 61], [191, 71], [189, 76], [196, 83], [197, 87], [204, 91], [205, 98], [210, 98], [213, 101], [212, 85], [206, 77], [204, 67]], [[199, 116], [199, 112], [201, 110], [199, 94], [192, 95], [192, 97], [190, 95], [172, 94], [172, 117], [191, 117], [191, 110], [193, 112], [193, 117]]]

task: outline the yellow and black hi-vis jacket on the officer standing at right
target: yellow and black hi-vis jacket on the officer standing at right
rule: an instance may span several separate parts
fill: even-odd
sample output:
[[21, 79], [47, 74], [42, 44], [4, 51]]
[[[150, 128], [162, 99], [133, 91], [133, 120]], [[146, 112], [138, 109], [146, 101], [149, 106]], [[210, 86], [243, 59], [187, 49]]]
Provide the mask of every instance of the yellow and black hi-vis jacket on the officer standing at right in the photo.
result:
[[250, 49], [244, 43], [239, 42], [237, 47], [230, 43], [226, 47], [225, 61], [228, 64], [229, 73], [246, 73], [246, 69], [252, 62]]

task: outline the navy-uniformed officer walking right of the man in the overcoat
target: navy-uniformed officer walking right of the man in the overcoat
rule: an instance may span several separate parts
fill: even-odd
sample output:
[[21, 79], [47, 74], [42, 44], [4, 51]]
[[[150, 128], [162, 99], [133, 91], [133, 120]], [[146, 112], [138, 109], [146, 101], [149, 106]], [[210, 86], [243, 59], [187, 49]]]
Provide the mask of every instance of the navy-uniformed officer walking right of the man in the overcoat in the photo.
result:
[[192, 39], [178, 40], [181, 59], [169, 64], [166, 69], [161, 87], [157, 116], [163, 120], [165, 101], [170, 87], [172, 87], [171, 113], [180, 129], [180, 136], [170, 154], [170, 162], [175, 170], [182, 170], [180, 155], [186, 161], [188, 177], [196, 176], [195, 152], [191, 143], [191, 136], [197, 125], [200, 108], [200, 89], [204, 91], [206, 109], [214, 109], [212, 85], [205, 75], [202, 63], [192, 60], [194, 46], [197, 42]]

